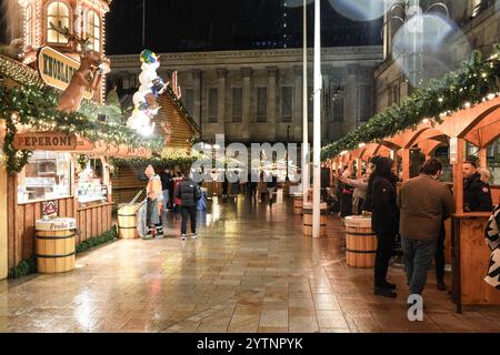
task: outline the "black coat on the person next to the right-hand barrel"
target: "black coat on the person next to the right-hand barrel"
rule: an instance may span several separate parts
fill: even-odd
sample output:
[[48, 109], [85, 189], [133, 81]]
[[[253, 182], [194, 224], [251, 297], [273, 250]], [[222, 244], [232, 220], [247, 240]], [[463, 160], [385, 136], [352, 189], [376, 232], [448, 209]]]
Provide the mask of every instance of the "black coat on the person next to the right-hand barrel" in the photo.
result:
[[377, 176], [371, 192], [371, 229], [377, 234], [398, 234], [399, 210], [396, 204], [396, 185]]

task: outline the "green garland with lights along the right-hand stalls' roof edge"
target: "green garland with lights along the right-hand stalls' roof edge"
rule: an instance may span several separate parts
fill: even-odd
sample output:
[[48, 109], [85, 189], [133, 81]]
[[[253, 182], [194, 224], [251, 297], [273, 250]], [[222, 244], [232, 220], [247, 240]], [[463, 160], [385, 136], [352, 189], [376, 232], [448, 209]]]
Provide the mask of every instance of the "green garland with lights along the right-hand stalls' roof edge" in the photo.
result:
[[442, 122], [442, 115], [451, 114], [467, 102], [474, 105], [491, 93], [498, 93], [500, 85], [500, 47], [494, 45], [493, 55], [483, 61], [476, 51], [457, 72], [450, 72], [440, 80], [430, 81], [426, 89], [417, 90], [400, 105], [392, 105], [377, 113], [370, 121], [348, 133], [342, 139], [321, 150], [324, 161], [342, 151], [356, 150], [361, 143], [378, 142], [407, 129], [414, 129], [423, 119]]

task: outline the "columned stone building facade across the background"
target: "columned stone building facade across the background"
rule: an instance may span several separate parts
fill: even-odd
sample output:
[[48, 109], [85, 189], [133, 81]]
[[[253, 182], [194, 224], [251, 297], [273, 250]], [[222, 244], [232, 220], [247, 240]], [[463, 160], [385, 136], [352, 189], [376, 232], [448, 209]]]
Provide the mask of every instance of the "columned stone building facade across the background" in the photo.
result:
[[[308, 87], [312, 94], [312, 50]], [[120, 94], [138, 87], [137, 54], [110, 55], [108, 87]], [[322, 142], [344, 135], [374, 113], [373, 73], [382, 47], [326, 48], [322, 51]], [[302, 50], [249, 50], [161, 54], [159, 74], [178, 71], [182, 102], [201, 126], [202, 140], [226, 142], [302, 140]], [[333, 100], [334, 93], [341, 92]], [[309, 100], [312, 139], [312, 100]]]

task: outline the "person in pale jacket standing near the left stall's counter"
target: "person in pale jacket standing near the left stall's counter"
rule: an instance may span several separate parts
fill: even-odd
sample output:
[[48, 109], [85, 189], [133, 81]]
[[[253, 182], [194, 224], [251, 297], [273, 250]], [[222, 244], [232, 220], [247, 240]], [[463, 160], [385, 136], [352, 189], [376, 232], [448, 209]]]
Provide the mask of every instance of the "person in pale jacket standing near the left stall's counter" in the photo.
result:
[[148, 165], [148, 168], [146, 168], [144, 174], [149, 179], [148, 186], [146, 187], [148, 195], [147, 223], [149, 231], [146, 239], [152, 239], [153, 236], [157, 239], [162, 239], [163, 225], [161, 222], [161, 212], [163, 206], [163, 190], [161, 189], [161, 179], [154, 172], [152, 165]]

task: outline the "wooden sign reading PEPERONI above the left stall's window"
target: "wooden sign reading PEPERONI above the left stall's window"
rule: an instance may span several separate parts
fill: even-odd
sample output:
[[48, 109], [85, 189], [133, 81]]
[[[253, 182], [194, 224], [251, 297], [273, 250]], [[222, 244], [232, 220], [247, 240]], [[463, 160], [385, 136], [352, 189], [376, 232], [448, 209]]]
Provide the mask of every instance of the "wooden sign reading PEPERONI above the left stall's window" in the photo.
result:
[[16, 134], [13, 146], [26, 151], [71, 151], [77, 148], [77, 136], [64, 133], [20, 133]]

